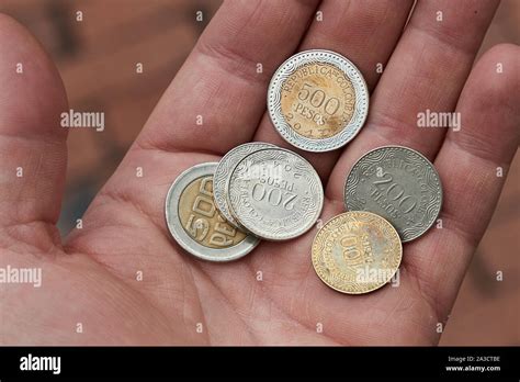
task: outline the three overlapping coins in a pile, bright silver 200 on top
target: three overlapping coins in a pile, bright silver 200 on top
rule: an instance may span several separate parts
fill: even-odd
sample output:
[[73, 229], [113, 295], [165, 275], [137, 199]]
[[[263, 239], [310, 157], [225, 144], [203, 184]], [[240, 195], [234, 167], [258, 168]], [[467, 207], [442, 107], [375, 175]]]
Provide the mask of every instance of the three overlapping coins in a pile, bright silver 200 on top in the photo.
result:
[[205, 260], [249, 254], [260, 239], [287, 240], [316, 223], [324, 204], [318, 173], [299, 155], [264, 143], [235, 147], [218, 164], [181, 173], [167, 195], [173, 238]]

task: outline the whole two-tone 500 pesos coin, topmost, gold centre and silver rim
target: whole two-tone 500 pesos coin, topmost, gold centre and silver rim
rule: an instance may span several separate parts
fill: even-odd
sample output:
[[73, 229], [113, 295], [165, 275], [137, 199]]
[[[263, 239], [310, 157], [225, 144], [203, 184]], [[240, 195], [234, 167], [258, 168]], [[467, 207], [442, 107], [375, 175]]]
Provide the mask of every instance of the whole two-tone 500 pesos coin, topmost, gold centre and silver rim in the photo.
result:
[[346, 145], [363, 126], [369, 90], [361, 71], [346, 57], [305, 50], [274, 74], [268, 110], [290, 144], [307, 151], [329, 151]]

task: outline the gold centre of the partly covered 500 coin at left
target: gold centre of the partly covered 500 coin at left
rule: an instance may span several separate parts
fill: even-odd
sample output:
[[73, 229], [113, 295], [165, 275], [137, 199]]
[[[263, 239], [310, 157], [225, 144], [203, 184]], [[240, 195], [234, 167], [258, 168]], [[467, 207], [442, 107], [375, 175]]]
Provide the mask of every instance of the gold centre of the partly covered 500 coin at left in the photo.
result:
[[179, 199], [179, 218], [186, 234], [207, 248], [233, 247], [247, 236], [215, 207], [213, 176], [197, 178], [184, 188]]

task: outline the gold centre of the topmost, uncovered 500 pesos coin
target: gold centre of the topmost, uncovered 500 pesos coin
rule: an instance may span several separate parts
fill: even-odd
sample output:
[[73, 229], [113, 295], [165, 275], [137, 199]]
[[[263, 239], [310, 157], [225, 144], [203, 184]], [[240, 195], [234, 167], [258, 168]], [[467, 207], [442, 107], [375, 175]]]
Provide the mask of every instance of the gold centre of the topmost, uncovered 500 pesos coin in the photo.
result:
[[307, 138], [337, 135], [349, 124], [354, 108], [352, 82], [329, 63], [303, 65], [282, 85], [282, 114], [297, 134]]

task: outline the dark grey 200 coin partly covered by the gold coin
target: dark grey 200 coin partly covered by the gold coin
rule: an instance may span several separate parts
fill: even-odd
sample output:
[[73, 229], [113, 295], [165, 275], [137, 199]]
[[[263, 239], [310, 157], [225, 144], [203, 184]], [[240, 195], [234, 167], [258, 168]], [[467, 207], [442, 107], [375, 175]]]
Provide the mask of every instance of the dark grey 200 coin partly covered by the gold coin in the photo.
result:
[[383, 216], [410, 241], [436, 222], [442, 205], [442, 186], [433, 165], [407, 147], [384, 146], [362, 156], [344, 184], [349, 211]]

